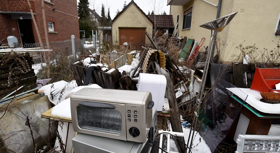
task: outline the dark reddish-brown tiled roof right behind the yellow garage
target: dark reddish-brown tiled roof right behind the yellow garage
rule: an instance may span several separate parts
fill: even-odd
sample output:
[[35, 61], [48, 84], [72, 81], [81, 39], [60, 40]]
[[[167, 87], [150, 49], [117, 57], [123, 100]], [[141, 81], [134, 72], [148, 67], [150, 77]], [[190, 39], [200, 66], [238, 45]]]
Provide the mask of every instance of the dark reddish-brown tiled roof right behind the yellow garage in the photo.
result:
[[[157, 27], [174, 28], [172, 15], [147, 15]], [[155, 21], [154, 21], [155, 20]]]

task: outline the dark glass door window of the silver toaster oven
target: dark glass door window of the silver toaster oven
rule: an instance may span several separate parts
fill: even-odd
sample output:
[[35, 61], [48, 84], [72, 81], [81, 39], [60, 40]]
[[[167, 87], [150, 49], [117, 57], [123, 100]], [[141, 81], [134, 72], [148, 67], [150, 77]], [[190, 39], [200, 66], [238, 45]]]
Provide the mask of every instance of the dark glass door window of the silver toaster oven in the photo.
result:
[[118, 110], [78, 106], [77, 117], [82, 129], [121, 134], [121, 112]]

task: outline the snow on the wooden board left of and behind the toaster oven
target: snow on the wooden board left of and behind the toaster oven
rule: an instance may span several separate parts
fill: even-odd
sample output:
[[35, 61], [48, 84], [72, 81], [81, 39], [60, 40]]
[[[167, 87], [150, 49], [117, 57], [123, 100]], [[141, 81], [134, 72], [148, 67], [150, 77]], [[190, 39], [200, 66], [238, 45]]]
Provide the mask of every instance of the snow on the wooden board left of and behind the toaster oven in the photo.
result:
[[[72, 89], [68, 94], [72, 94], [77, 92], [78, 90], [81, 90], [82, 88], [101, 88], [101, 86], [98, 86], [97, 84], [92, 84], [88, 86], [78, 86], [75, 89]], [[52, 116], [59, 116], [59, 117], [65, 117], [65, 118], [71, 118], [71, 106], [70, 106], [70, 98], [67, 98], [54, 106], [52, 108]]]

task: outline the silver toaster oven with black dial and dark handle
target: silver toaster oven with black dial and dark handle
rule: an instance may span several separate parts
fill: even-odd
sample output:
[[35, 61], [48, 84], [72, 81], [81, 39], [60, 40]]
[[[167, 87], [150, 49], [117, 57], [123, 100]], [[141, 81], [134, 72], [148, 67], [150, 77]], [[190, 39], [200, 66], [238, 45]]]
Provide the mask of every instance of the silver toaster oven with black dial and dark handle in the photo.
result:
[[144, 143], [152, 120], [150, 92], [83, 88], [70, 98], [79, 133]]

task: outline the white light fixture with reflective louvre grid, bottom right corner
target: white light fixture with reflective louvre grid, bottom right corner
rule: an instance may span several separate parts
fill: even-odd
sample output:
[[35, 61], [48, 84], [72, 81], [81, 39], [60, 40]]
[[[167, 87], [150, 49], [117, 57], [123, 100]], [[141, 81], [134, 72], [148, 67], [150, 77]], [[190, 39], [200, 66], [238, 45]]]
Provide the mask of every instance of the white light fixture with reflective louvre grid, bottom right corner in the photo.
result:
[[279, 141], [280, 136], [239, 134], [235, 153], [280, 152]]

